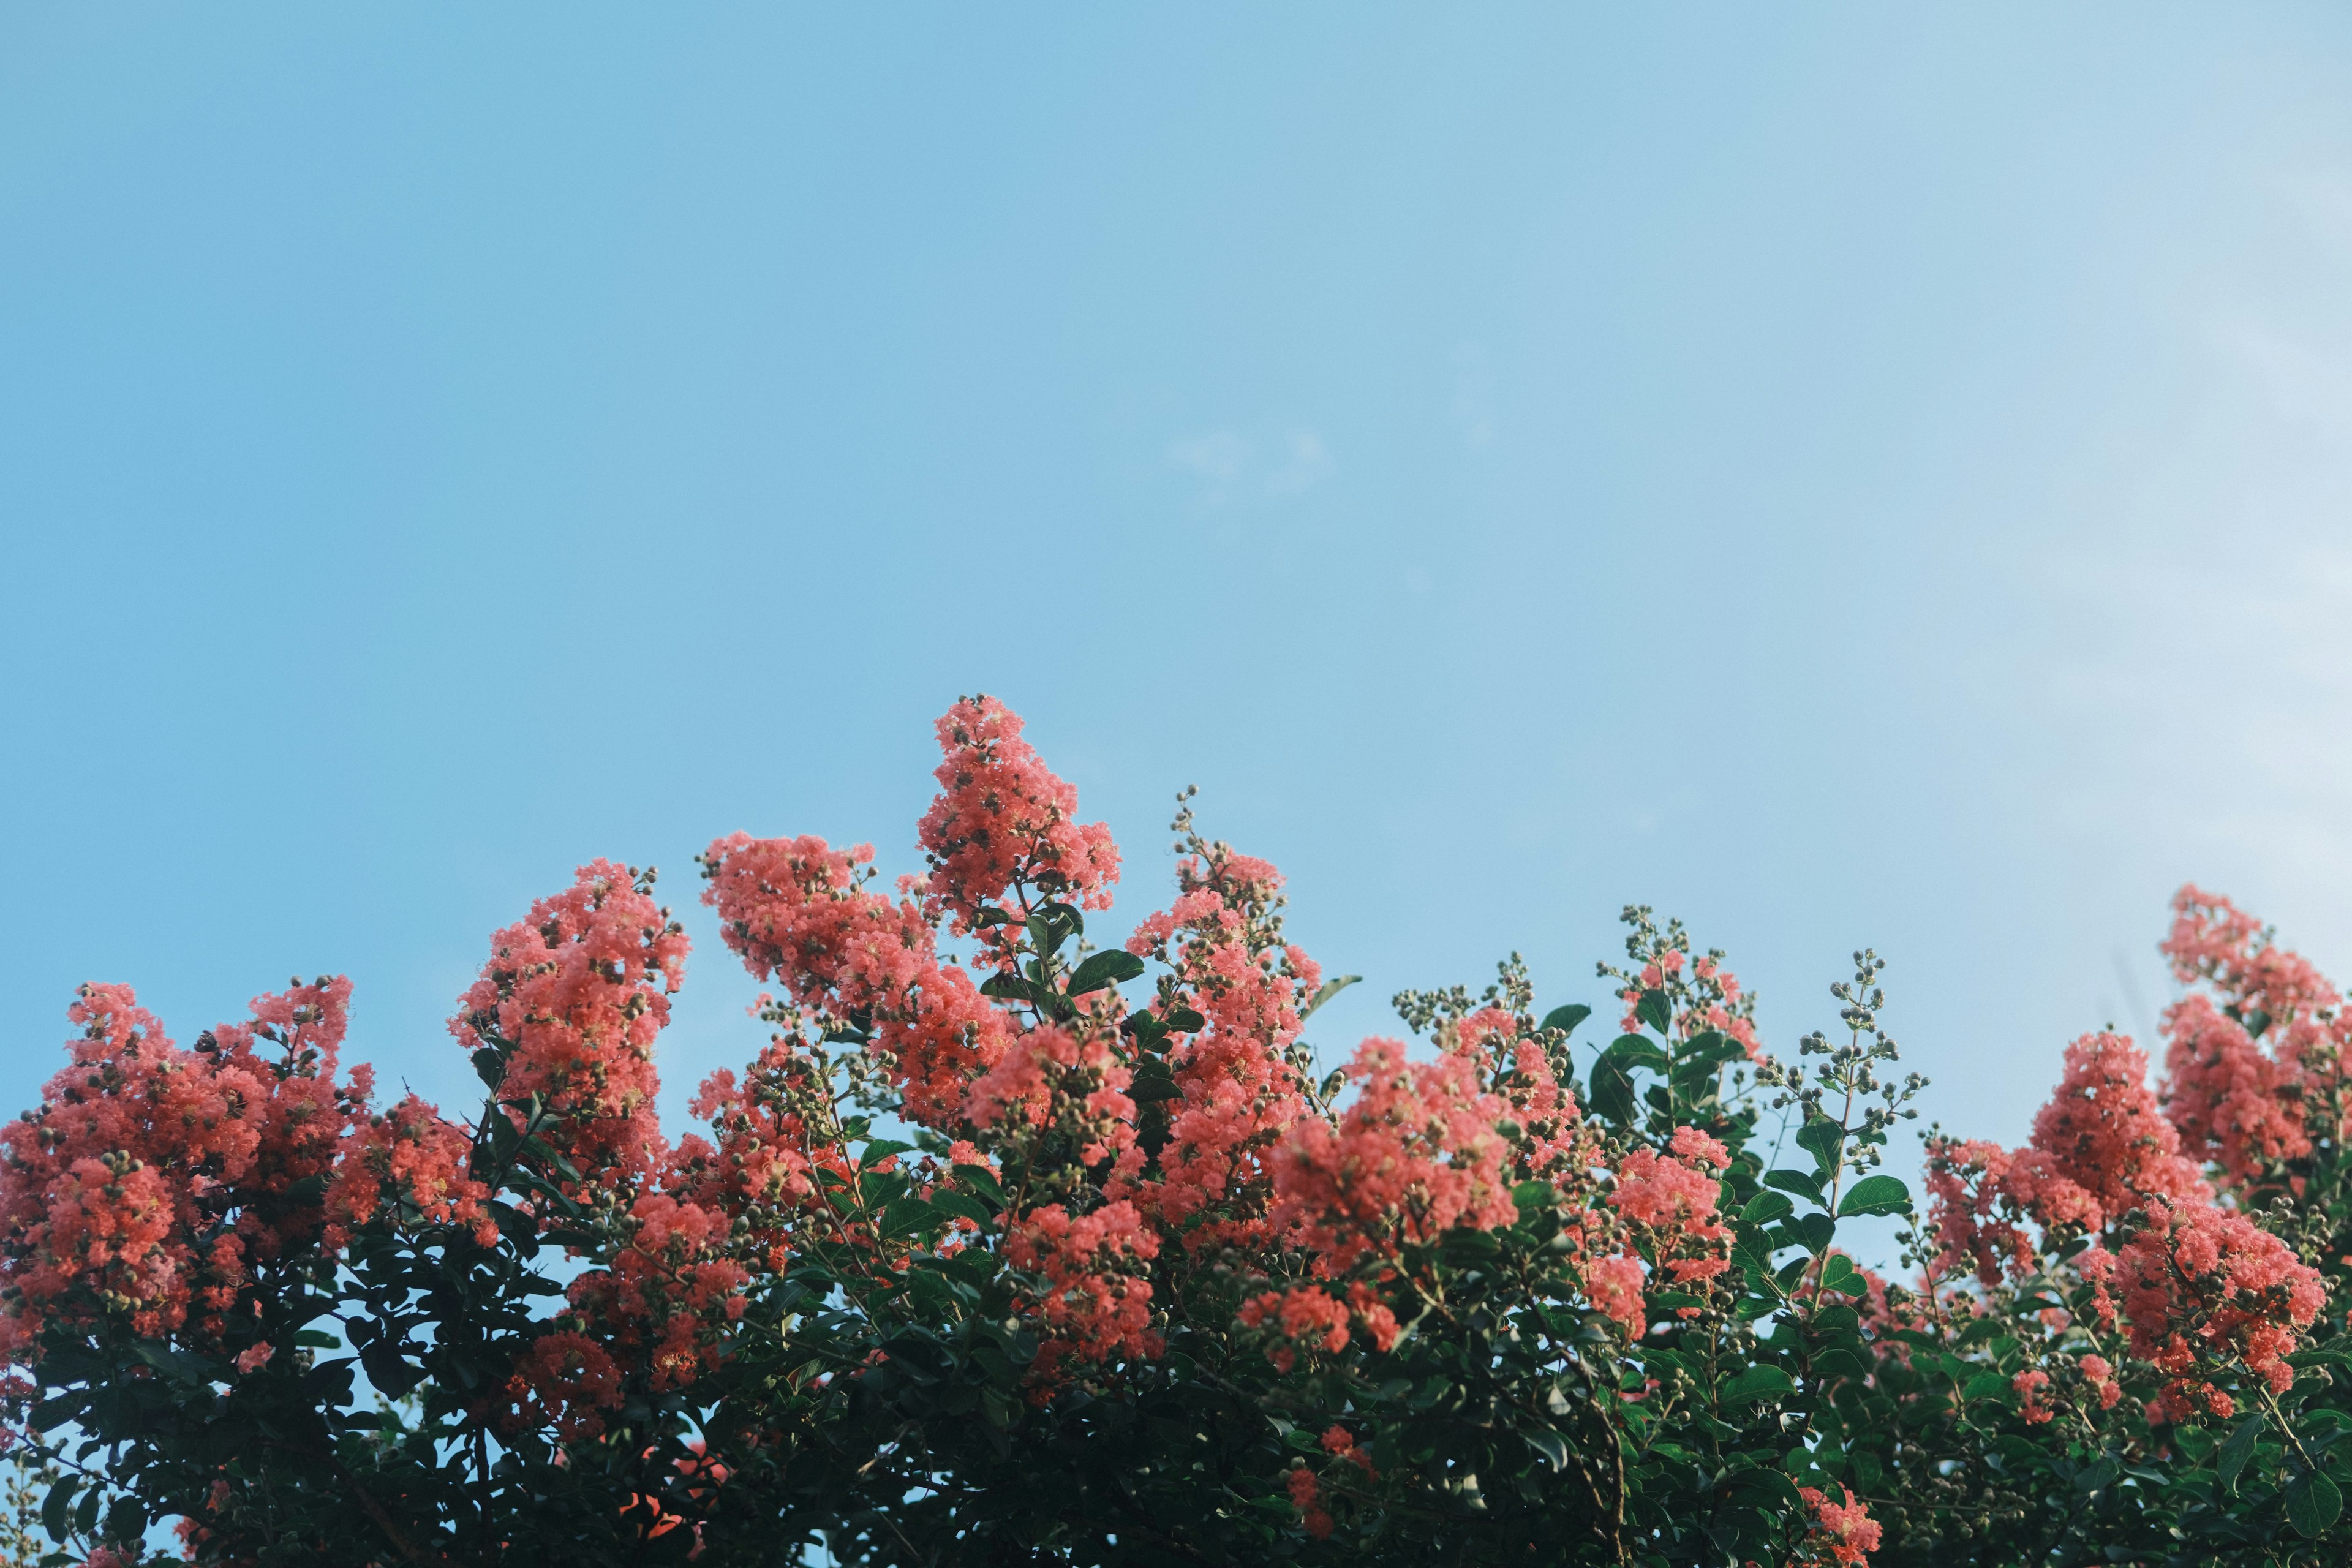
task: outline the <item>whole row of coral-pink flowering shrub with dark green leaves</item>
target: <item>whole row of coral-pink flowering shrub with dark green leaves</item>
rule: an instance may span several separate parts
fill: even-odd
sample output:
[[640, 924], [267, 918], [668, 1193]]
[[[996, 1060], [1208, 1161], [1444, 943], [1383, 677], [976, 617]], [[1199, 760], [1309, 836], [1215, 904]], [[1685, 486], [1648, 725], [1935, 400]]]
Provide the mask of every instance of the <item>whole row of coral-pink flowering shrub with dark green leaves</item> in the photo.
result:
[[[769, 1041], [654, 1117], [687, 938], [595, 860], [376, 1107], [315, 980], [174, 1046], [92, 985], [0, 1128], [0, 1387], [56, 1563], [2343, 1561], [2345, 1013], [2185, 889], [2164, 1077], [2065, 1048], [2023, 1147], [1882, 1171], [1882, 964], [1771, 1056], [1628, 910], [1618, 1018], [1517, 957], [1322, 1072], [1282, 877], [1169, 905], [1004, 705], [927, 870], [731, 835]], [[1839, 1234], [1898, 1218], [1903, 1284]], [[1851, 1234], [1846, 1234], [1851, 1246]], [[24, 1537], [16, 1526], [9, 1540]]]

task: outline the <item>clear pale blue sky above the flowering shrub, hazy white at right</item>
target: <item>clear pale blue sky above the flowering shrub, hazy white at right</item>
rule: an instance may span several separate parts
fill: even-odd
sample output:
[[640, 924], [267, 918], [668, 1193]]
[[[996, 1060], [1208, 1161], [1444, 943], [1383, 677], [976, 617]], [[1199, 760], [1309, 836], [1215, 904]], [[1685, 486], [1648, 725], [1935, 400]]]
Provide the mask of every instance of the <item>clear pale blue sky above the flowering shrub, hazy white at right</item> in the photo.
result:
[[2352, 957], [2331, 7], [14, 7], [0, 1110], [85, 978], [459, 1103], [590, 856], [910, 870], [1028, 715], [1404, 985], [1872, 943], [2016, 1140], [2220, 886]]

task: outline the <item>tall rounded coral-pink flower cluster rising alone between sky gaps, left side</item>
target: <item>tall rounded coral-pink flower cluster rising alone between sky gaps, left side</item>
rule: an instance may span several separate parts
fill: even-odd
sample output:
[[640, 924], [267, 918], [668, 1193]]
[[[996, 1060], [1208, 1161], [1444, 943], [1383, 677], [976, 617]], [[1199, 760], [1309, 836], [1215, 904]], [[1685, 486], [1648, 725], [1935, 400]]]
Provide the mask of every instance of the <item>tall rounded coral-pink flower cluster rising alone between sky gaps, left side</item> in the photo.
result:
[[[687, 933], [649, 884], [612, 860], [583, 865], [569, 889], [489, 938], [482, 978], [449, 1020], [461, 1046], [506, 1058], [501, 1100], [541, 1100], [548, 1147], [616, 1185], [663, 1154], [654, 1039], [687, 973]], [[508, 1114], [524, 1126], [517, 1105]]]

